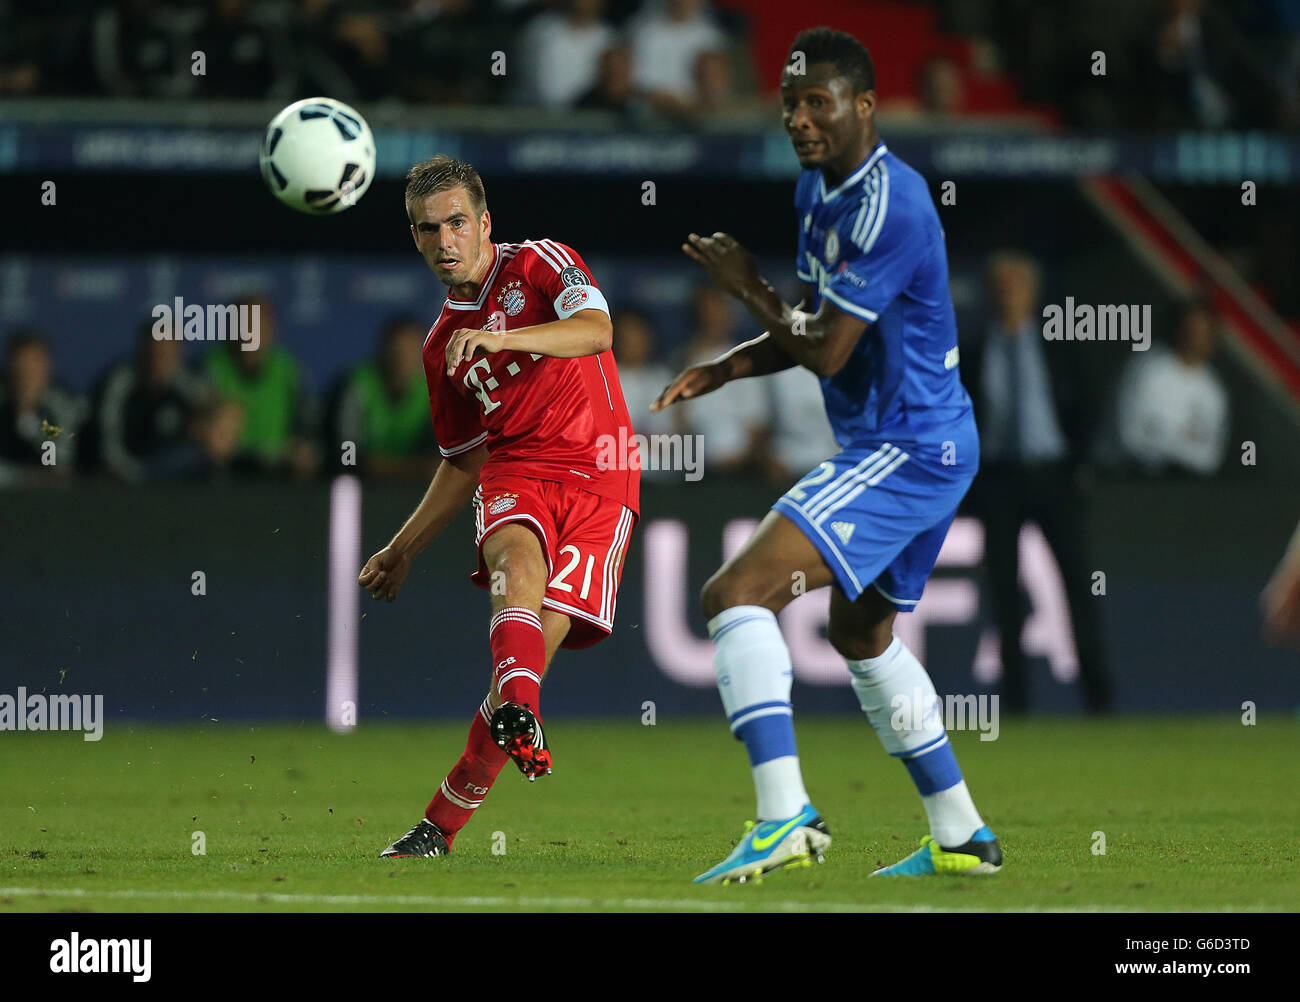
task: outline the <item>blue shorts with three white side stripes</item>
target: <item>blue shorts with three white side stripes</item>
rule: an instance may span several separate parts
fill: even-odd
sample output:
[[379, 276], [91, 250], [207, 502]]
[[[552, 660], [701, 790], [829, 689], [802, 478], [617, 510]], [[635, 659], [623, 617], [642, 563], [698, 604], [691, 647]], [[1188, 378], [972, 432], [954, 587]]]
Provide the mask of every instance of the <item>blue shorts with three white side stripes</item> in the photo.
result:
[[772, 508], [812, 542], [850, 602], [874, 586], [900, 612], [911, 612], [976, 468], [978, 459], [944, 465], [888, 442], [853, 446]]

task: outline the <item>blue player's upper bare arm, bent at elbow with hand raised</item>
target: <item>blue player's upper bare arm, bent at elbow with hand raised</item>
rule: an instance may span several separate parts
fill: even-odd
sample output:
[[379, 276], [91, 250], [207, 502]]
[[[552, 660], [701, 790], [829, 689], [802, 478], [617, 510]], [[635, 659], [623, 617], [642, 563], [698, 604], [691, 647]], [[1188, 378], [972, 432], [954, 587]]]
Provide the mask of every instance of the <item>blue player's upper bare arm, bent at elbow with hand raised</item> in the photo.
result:
[[722, 289], [731, 292], [767, 333], [772, 343], [820, 378], [835, 376], [849, 361], [867, 329], [861, 317], [822, 300], [816, 313], [786, 305], [772, 285], [758, 273], [754, 255], [725, 233], [712, 237], [690, 234], [681, 246]]

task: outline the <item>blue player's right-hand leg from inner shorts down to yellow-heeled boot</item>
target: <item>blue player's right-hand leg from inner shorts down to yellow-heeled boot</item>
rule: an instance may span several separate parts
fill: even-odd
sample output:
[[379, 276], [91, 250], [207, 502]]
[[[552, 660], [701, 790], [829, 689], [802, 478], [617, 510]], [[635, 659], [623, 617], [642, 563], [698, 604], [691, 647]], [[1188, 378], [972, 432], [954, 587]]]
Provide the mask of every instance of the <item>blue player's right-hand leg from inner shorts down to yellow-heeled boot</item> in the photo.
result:
[[[984, 824], [944, 728], [944, 710], [930, 673], [893, 634], [900, 603], [920, 598], [952, 517], [918, 535], [857, 600], [831, 593], [831, 645], [853, 676], [853, 691], [885, 751], [901, 759], [930, 819], [922, 847], [881, 876], [992, 873], [1002, 854]], [[893, 597], [887, 598], [884, 593]]]

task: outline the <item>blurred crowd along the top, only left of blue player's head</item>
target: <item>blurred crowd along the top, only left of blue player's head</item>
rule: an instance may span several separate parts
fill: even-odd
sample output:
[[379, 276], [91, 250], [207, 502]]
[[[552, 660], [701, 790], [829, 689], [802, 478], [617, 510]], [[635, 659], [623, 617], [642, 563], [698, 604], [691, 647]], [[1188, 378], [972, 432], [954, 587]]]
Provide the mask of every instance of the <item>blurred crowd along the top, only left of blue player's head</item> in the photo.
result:
[[0, 0], [0, 95], [689, 116], [753, 92], [742, 19], [703, 0]]

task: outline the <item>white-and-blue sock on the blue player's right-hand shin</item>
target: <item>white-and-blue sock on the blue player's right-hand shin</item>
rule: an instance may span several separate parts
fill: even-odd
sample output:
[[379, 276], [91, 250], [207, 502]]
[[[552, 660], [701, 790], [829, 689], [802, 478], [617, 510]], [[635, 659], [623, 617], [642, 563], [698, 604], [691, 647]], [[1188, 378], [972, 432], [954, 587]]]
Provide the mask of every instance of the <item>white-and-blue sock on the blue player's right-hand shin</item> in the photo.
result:
[[898, 637], [879, 658], [846, 663], [862, 712], [916, 784], [931, 836], [940, 846], [965, 845], [984, 821], [962, 780], [930, 673]]

